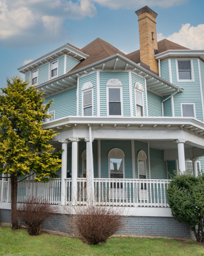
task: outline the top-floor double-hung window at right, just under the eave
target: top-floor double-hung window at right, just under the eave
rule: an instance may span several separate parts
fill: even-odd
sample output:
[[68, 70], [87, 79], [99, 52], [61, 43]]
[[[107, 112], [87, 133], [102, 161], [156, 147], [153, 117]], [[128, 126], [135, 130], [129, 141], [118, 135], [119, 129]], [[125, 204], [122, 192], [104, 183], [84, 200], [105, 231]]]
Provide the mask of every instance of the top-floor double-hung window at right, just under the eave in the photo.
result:
[[178, 80], [193, 80], [191, 60], [177, 60]]

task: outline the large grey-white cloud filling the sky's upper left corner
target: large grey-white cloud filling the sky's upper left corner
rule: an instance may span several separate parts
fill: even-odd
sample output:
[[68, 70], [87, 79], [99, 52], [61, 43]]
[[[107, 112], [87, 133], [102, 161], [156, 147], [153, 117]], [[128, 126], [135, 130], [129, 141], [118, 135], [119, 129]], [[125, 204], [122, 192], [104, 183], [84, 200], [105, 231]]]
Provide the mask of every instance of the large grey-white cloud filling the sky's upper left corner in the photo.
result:
[[96, 15], [91, 0], [0, 0], [0, 45], [60, 40], [66, 19]]

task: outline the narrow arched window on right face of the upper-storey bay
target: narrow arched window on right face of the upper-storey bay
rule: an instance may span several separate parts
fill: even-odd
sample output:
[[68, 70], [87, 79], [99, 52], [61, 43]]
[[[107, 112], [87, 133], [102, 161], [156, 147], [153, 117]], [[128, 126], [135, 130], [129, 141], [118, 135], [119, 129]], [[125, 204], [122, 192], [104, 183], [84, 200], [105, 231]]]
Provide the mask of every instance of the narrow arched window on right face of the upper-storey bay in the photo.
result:
[[143, 86], [135, 83], [135, 112], [136, 116], [143, 116]]

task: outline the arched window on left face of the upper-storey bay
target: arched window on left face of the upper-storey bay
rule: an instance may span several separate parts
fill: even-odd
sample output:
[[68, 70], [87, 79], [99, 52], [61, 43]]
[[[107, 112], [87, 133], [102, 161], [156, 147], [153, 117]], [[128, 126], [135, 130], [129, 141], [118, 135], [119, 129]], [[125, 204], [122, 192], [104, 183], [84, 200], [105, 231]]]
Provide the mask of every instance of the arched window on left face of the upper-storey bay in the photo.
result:
[[86, 82], [82, 86], [82, 115], [93, 115], [93, 84]]

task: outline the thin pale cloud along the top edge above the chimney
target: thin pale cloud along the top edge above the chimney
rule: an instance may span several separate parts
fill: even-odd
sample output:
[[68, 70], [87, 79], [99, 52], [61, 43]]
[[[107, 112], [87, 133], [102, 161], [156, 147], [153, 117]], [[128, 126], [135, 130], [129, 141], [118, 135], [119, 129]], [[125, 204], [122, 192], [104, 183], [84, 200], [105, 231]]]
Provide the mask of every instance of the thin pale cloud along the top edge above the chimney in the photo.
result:
[[112, 9], [119, 8], [141, 8], [142, 6], [160, 6], [162, 8], [168, 8], [171, 6], [184, 4], [189, 2], [189, 0], [92, 0], [95, 3], [100, 4], [101, 6], [106, 6]]

